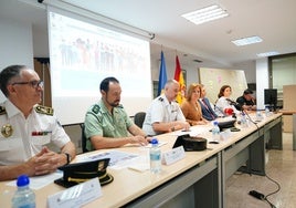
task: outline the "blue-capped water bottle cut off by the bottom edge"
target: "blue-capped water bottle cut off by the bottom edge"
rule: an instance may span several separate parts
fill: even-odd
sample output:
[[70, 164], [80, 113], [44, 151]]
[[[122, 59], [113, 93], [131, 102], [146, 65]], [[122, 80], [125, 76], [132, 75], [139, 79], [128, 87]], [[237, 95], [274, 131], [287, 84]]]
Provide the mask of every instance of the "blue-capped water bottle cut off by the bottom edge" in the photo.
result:
[[11, 204], [12, 208], [35, 208], [35, 194], [29, 187], [30, 179], [27, 175], [18, 177], [18, 190], [14, 193]]

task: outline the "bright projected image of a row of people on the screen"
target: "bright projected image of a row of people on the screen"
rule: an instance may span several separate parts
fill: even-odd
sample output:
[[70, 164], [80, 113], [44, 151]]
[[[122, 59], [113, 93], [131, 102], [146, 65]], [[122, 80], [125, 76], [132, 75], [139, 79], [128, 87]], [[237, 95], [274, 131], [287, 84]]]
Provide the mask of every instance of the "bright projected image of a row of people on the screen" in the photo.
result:
[[[114, 75], [125, 82], [128, 75], [133, 85], [142, 85], [138, 76], [150, 76], [147, 41], [54, 12], [50, 12], [50, 46], [56, 96], [68, 96], [73, 91], [74, 96], [77, 92], [97, 94], [98, 83], [105, 76]], [[125, 83], [127, 92], [126, 87], [131, 87], [128, 83]], [[131, 94], [142, 93], [136, 92], [137, 89], [130, 89]]]

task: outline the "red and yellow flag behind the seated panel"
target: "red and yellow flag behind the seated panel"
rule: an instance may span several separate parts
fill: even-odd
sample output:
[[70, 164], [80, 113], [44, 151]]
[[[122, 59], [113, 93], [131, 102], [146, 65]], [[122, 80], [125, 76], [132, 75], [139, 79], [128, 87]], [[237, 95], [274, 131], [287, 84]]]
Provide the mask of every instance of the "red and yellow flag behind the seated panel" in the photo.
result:
[[175, 76], [173, 79], [179, 82], [180, 84], [180, 89], [179, 89], [179, 93], [176, 97], [176, 101], [181, 104], [184, 100], [184, 95], [186, 95], [186, 83], [184, 83], [184, 77], [183, 77], [183, 73], [180, 66], [180, 62], [179, 62], [179, 58], [178, 55], [176, 55], [176, 71], [175, 71]]

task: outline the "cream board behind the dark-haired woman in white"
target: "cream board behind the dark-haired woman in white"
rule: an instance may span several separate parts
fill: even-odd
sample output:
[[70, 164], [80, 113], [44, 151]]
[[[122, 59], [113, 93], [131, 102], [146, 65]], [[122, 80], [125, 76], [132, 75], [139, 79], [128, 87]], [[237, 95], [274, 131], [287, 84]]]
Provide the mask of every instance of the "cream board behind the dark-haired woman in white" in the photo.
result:
[[232, 89], [231, 100], [236, 101], [247, 89], [246, 79], [243, 70], [226, 69], [199, 69], [200, 83], [205, 86], [207, 97], [211, 103], [215, 103], [221, 86], [230, 85]]

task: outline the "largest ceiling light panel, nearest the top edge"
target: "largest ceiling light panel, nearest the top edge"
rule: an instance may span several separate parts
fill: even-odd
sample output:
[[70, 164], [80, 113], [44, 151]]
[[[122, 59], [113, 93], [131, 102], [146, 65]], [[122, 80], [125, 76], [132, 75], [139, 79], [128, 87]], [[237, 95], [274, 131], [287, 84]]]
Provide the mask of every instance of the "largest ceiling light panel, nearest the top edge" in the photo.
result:
[[225, 10], [214, 4], [193, 12], [184, 13], [181, 17], [194, 24], [201, 24], [220, 18], [225, 18], [228, 15], [229, 13]]

